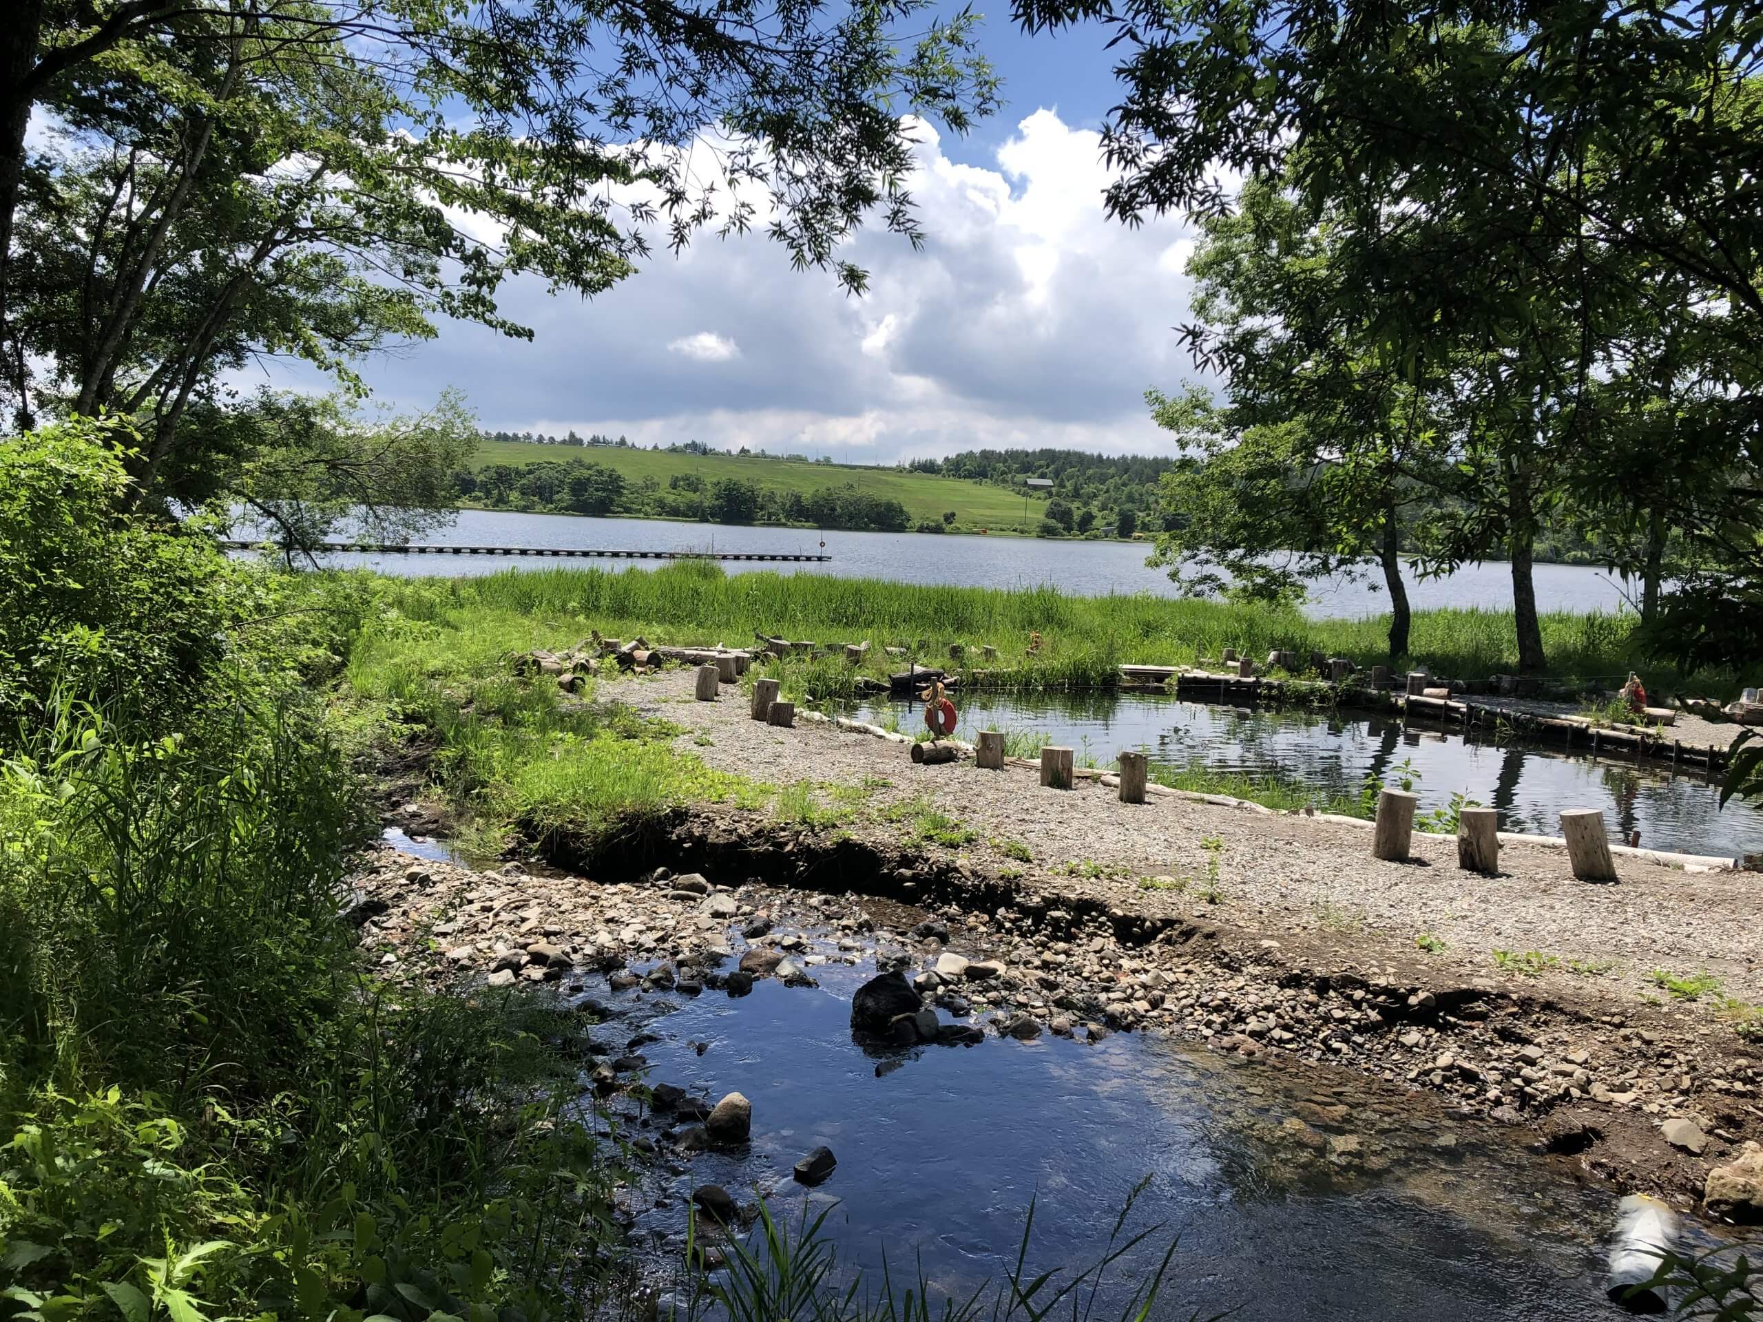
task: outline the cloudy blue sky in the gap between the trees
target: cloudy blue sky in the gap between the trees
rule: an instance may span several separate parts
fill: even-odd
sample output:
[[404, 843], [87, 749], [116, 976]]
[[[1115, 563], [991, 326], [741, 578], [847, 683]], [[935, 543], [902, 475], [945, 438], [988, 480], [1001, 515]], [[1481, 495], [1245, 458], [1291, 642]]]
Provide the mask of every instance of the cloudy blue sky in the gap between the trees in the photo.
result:
[[924, 252], [864, 233], [864, 298], [792, 271], [763, 236], [658, 254], [592, 301], [536, 282], [506, 308], [532, 342], [474, 326], [365, 365], [381, 400], [462, 388], [492, 430], [610, 432], [892, 464], [980, 446], [1165, 453], [1149, 386], [1194, 377], [1179, 219], [1102, 215], [1097, 130], [1118, 99], [1100, 30], [1030, 39], [1001, 12], [984, 44], [1005, 109], [959, 139], [920, 132]]

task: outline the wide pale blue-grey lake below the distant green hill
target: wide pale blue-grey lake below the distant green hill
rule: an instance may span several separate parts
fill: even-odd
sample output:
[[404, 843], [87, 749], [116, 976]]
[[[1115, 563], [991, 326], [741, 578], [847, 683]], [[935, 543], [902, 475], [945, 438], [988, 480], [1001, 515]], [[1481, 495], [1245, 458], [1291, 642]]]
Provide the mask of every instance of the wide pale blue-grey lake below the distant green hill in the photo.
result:
[[[959, 583], [968, 587], [1038, 587], [1053, 583], [1075, 596], [1155, 592], [1174, 596], [1162, 569], [1148, 569], [1146, 543], [1040, 541], [1037, 538], [933, 536], [922, 532], [816, 532], [813, 529], [730, 527], [670, 524], [647, 518], [573, 518], [462, 509], [453, 527], [420, 538], [451, 546], [573, 546], [596, 550], [772, 552], [813, 555], [825, 539], [829, 564], [740, 564], [730, 573], [827, 573], [843, 578], [892, 578], [904, 583]], [[534, 561], [525, 555], [326, 555], [326, 564], [367, 566], [391, 575], [487, 575], [534, 568], [628, 568], [608, 561]], [[652, 568], [652, 566], [651, 566]], [[1372, 590], [1380, 576], [1336, 580], [1312, 589], [1306, 610], [1317, 617], [1359, 617], [1387, 610], [1387, 596]], [[1620, 580], [1599, 569], [1566, 564], [1536, 568], [1537, 605], [1543, 610], [1617, 610]], [[1507, 608], [1513, 603], [1511, 569], [1502, 562], [1469, 566], [1442, 580], [1410, 582], [1416, 610], [1432, 606]]]

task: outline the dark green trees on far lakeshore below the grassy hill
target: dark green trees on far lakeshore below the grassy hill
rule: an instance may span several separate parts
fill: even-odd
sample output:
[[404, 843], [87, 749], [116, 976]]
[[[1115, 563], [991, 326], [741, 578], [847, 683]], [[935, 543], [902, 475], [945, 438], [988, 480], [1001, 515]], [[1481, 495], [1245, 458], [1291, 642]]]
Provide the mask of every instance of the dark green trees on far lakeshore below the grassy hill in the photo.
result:
[[492, 509], [559, 515], [640, 515], [705, 524], [806, 524], [813, 527], [901, 532], [906, 506], [871, 495], [855, 483], [813, 492], [781, 492], [755, 481], [696, 472], [675, 472], [628, 481], [624, 474], [587, 458], [538, 464], [490, 464], [453, 474], [460, 501]]

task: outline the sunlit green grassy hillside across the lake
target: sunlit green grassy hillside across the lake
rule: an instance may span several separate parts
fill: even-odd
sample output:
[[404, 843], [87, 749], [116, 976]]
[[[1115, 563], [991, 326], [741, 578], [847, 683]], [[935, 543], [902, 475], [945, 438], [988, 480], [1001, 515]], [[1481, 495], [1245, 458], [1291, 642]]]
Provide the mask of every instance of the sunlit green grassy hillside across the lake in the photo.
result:
[[584, 458], [615, 469], [628, 483], [652, 478], [663, 488], [668, 479], [695, 474], [707, 485], [721, 479], [751, 481], [762, 490], [800, 492], [807, 495], [823, 486], [855, 483], [869, 495], [899, 501], [913, 524], [941, 522], [956, 511], [956, 529], [993, 532], [1031, 532], [1038, 527], [1045, 501], [1030, 497], [1024, 518], [1024, 501], [1001, 486], [987, 486], [966, 478], [943, 478], [931, 472], [866, 467], [860, 464], [813, 464], [800, 458], [769, 455], [686, 455], [665, 449], [626, 449], [619, 446], [547, 446], [525, 441], [485, 441], [472, 460], [485, 469], [494, 464], [538, 464]]

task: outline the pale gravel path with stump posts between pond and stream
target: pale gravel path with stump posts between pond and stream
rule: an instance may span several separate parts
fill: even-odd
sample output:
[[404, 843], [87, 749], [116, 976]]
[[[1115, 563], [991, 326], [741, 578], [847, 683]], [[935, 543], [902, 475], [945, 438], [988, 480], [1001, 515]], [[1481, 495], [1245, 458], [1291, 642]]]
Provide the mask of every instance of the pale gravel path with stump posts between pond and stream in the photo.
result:
[[[852, 830], [897, 839], [911, 823], [890, 821], [889, 809], [924, 804], [978, 832], [959, 850], [975, 867], [1081, 885], [1135, 913], [1206, 917], [1268, 941], [1301, 934], [1373, 962], [1380, 950], [1412, 964], [1416, 938], [1432, 934], [1446, 947], [1432, 964], [1477, 978], [1500, 977], [1495, 950], [1537, 952], [1553, 962], [1537, 961], [1543, 968], [1529, 985], [1625, 992], [1629, 1001], [1657, 994], [1648, 978], [1655, 968], [1707, 969], [1728, 994], [1763, 999], [1758, 874], [1685, 873], [1618, 857], [1618, 885], [1587, 885], [1574, 881], [1566, 851], [1513, 844], [1500, 851], [1504, 873], [1484, 878], [1458, 871], [1453, 839], [1419, 834], [1414, 862], [1389, 864], [1372, 857], [1370, 830], [1359, 825], [1186, 798], [1128, 806], [1093, 781], [1047, 790], [1028, 769], [980, 770], [970, 760], [919, 767], [904, 746], [869, 735], [758, 724], [740, 691], [693, 702], [689, 672], [610, 680], [601, 696], [686, 726], [681, 751], [716, 769], [777, 786], [862, 786], [843, 798], [820, 793]], [[1026, 848], [1031, 862], [1003, 844]], [[1213, 860], [1216, 899], [1208, 899]], [[1142, 878], [1174, 885], [1146, 888]]]

